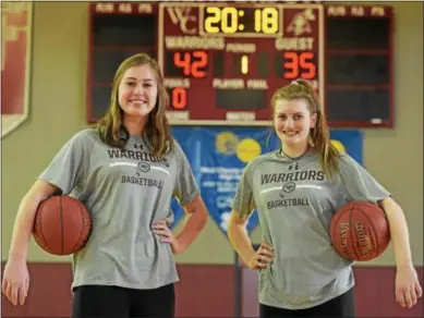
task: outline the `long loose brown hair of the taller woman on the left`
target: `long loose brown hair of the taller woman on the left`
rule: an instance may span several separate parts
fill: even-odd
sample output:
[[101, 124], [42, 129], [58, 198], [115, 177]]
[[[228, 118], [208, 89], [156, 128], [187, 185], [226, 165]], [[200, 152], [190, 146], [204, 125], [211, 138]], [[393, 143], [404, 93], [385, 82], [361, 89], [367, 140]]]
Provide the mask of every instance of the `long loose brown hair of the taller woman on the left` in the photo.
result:
[[126, 139], [121, 136], [123, 127], [123, 111], [119, 106], [118, 94], [119, 85], [126, 70], [133, 66], [149, 65], [156, 76], [158, 86], [158, 97], [156, 106], [148, 114], [146, 126], [143, 131], [143, 137], [146, 136], [152, 143], [153, 154], [156, 157], [163, 157], [173, 149], [173, 138], [171, 136], [168, 119], [165, 111], [169, 108], [169, 97], [165, 88], [163, 77], [158, 63], [146, 53], [134, 54], [124, 60], [114, 74], [112, 94], [108, 111], [97, 124], [97, 131], [101, 140], [118, 148], [124, 148]]

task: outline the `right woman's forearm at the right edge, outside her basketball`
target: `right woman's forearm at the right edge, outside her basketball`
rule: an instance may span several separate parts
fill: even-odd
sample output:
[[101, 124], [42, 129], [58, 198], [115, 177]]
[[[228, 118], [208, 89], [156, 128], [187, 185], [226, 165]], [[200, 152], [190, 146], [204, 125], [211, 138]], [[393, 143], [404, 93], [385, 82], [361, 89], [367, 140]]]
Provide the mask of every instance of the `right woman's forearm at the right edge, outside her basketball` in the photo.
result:
[[408, 224], [402, 208], [392, 198], [384, 199], [381, 206], [389, 222], [397, 267], [412, 266]]

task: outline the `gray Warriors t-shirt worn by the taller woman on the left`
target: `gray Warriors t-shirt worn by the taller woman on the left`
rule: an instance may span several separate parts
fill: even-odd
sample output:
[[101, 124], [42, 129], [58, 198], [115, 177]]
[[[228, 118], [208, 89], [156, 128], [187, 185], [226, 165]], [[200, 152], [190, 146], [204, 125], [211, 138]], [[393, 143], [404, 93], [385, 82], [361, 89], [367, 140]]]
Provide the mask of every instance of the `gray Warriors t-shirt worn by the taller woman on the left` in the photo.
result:
[[124, 150], [112, 148], [87, 129], [41, 173], [40, 179], [81, 200], [93, 219], [86, 246], [73, 255], [73, 288], [155, 289], [179, 280], [171, 247], [152, 224], [173, 221], [172, 196], [184, 206], [199, 189], [180, 145], [163, 158], [150, 149], [138, 136], [130, 136]]

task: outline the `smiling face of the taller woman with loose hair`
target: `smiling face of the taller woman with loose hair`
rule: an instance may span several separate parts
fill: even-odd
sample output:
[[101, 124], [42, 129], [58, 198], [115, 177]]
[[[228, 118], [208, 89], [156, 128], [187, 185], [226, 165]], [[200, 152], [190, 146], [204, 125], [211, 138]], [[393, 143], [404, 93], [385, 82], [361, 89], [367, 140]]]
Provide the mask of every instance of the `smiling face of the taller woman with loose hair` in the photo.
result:
[[156, 106], [157, 80], [147, 64], [132, 66], [122, 76], [118, 101], [124, 117], [146, 118]]

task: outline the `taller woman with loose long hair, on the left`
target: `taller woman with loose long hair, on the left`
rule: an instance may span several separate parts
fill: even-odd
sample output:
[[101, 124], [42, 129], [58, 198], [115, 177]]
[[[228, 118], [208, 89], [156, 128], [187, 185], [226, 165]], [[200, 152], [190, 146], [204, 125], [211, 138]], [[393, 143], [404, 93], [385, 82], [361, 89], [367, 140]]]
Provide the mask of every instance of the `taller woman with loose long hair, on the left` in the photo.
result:
[[[206, 207], [165, 114], [168, 96], [144, 53], [119, 66], [110, 106], [96, 129], [75, 134], [23, 198], [2, 291], [24, 304], [28, 242], [39, 203], [54, 193], [80, 199], [93, 218], [86, 246], [73, 255], [73, 317], [173, 317], [173, 254], [204, 228]], [[168, 225], [175, 196], [187, 212], [177, 237]]]

